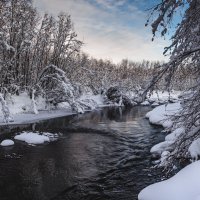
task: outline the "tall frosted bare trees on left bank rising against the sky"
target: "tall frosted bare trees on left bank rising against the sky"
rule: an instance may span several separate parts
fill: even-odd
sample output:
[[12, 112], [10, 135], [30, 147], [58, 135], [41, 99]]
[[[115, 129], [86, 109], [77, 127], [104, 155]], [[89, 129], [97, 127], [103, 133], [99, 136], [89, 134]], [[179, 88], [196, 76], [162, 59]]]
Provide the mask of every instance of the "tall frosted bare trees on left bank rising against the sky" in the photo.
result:
[[30, 1], [0, 2], [0, 90], [32, 89], [48, 65], [62, 68], [80, 50], [69, 15], [39, 17]]

